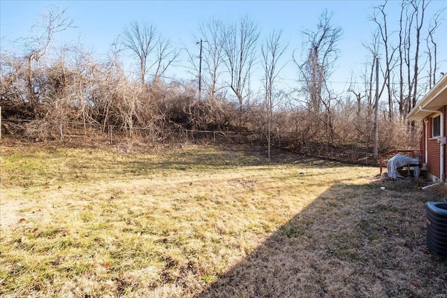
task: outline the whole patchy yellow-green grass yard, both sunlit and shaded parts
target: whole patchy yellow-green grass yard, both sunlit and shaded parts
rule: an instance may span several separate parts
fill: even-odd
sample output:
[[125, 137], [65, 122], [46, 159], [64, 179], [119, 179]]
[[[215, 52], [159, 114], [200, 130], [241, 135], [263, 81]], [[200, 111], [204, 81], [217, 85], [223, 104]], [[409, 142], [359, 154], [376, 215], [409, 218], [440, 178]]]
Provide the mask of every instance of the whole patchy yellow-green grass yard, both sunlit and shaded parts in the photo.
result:
[[257, 152], [0, 144], [0, 296], [447, 297], [444, 187]]

